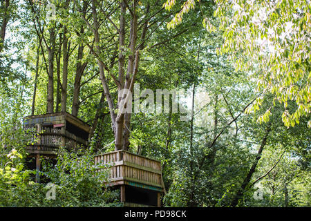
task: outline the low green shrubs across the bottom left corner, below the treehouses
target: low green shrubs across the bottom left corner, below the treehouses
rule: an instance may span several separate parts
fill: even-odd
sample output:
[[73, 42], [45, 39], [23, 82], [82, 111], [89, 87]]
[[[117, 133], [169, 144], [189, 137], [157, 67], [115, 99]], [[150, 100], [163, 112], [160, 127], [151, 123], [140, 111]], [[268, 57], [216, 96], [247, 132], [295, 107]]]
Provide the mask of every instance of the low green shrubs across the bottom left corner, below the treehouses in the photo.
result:
[[[35, 183], [33, 176], [37, 171], [25, 168], [24, 159], [16, 149], [6, 158], [1, 158], [0, 169], [0, 206], [120, 206], [118, 193], [104, 189], [109, 168], [94, 165], [93, 155], [68, 153], [61, 149], [57, 164], [44, 162], [41, 177], [49, 184]], [[6, 163], [4, 164], [4, 160]], [[101, 169], [99, 173], [97, 170]], [[51, 185], [55, 186], [55, 199], [48, 199]]]

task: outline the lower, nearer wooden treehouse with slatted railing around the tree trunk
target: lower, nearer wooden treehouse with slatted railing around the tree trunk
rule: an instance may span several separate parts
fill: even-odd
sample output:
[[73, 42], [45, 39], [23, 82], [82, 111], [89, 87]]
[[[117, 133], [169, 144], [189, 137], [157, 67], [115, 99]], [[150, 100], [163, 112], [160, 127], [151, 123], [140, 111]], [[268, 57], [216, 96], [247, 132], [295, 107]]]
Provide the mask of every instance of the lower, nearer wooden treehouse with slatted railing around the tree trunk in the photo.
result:
[[113, 151], [95, 156], [95, 164], [111, 165], [106, 186], [120, 189], [124, 206], [161, 206], [164, 192], [161, 163], [128, 151]]

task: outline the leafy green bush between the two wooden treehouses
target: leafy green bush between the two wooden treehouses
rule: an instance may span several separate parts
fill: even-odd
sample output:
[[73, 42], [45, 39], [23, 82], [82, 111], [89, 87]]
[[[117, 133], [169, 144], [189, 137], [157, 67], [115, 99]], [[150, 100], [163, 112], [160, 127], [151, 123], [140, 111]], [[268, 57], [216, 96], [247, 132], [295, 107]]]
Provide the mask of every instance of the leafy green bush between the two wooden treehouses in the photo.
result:
[[[98, 172], [98, 170], [101, 170]], [[60, 149], [55, 166], [46, 164], [43, 175], [55, 184], [56, 200], [51, 206], [120, 206], [116, 193], [104, 189], [110, 168], [94, 164], [88, 151], [70, 152]], [[107, 202], [111, 202], [107, 204]]]

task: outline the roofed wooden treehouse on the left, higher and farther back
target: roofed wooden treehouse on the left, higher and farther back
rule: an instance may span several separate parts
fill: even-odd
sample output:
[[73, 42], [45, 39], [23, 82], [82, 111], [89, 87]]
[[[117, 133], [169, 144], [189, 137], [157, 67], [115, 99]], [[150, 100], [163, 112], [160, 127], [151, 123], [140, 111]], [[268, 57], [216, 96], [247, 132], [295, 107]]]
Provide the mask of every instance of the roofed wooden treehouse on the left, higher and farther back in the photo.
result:
[[[40, 157], [55, 158], [59, 146], [65, 146], [69, 151], [88, 146], [91, 130], [86, 122], [66, 112], [27, 116], [23, 119], [23, 127], [36, 132], [26, 151], [30, 158], [28, 167], [37, 171], [41, 167]], [[36, 181], [39, 182], [39, 175], [36, 175]]]

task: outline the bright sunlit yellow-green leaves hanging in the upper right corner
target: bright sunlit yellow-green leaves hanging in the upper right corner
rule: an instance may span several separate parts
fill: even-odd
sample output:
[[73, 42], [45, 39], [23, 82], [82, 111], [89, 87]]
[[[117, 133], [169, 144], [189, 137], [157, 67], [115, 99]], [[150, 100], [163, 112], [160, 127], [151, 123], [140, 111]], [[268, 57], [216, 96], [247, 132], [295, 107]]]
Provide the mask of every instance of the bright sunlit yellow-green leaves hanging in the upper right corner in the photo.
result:
[[[164, 6], [171, 10], [175, 1]], [[182, 21], [182, 15], [194, 8], [195, 1], [185, 1], [168, 27]], [[310, 1], [216, 1], [214, 19], [205, 17], [203, 26], [209, 31], [223, 30], [224, 43], [219, 52], [229, 53], [237, 70], [247, 70], [256, 79], [258, 97], [246, 113], [258, 111], [265, 93], [272, 93], [276, 102], [284, 104], [282, 120], [285, 126], [299, 124], [310, 115]], [[288, 102], [294, 101], [294, 111]], [[258, 117], [267, 122], [270, 108]], [[311, 122], [308, 122], [310, 127]]]

